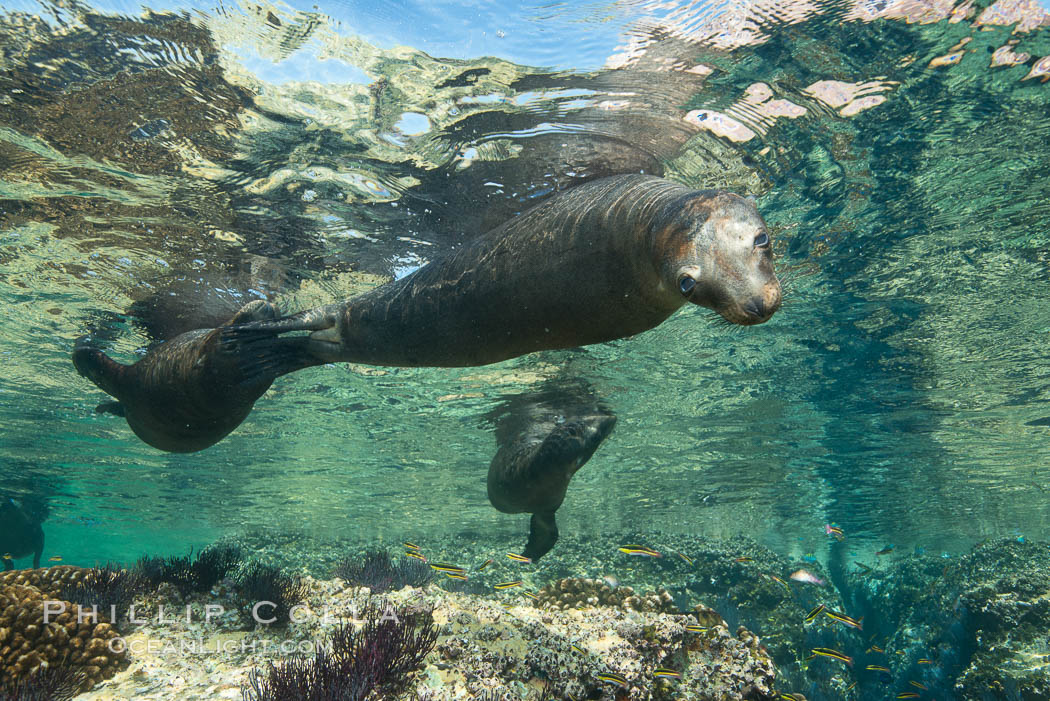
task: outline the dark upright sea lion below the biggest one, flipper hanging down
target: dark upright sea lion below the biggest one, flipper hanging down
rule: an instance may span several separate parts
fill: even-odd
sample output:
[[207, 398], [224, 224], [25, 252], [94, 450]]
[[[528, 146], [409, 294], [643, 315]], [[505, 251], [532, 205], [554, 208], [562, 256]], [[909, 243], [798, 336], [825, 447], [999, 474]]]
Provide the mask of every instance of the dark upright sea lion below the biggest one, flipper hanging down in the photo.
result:
[[569, 481], [609, 437], [616, 417], [586, 384], [516, 397], [498, 415], [488, 501], [504, 513], [532, 514], [522, 554], [534, 562], [558, 541], [554, 512]]

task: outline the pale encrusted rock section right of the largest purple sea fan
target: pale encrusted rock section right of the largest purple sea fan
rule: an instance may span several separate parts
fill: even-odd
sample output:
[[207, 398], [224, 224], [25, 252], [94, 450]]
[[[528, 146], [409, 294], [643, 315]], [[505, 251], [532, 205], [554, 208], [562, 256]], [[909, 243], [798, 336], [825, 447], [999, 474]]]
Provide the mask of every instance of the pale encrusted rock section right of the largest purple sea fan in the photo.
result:
[[[740, 629], [734, 636], [721, 625], [687, 630], [695, 622], [622, 607], [505, 612], [482, 603], [449, 616], [435, 666], [446, 683], [461, 680], [474, 695], [503, 685], [514, 691], [512, 698], [525, 698], [546, 680], [578, 699], [609, 692], [631, 701], [775, 698], [775, 667], [754, 635]], [[658, 668], [680, 679], [657, 676]]]

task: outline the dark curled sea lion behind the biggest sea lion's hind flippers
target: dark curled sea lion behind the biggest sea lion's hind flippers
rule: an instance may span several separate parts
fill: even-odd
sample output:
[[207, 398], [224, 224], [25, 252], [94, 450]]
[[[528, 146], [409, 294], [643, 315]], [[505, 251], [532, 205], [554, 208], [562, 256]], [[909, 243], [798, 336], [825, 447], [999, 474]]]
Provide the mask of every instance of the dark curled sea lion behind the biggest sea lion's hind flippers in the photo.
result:
[[[227, 323], [275, 317], [271, 304], [256, 300]], [[287, 364], [294, 362], [288, 353], [296, 349], [295, 339], [284, 339], [292, 344], [282, 343], [267, 358], [246, 362], [244, 355], [223, 348], [222, 328], [176, 336], [133, 365], [111, 360], [82, 338], [74, 348], [72, 362], [78, 373], [117, 398], [97, 410], [124, 417], [131, 430], [154, 448], [203, 450], [236, 428], [276, 377], [295, 369]]]

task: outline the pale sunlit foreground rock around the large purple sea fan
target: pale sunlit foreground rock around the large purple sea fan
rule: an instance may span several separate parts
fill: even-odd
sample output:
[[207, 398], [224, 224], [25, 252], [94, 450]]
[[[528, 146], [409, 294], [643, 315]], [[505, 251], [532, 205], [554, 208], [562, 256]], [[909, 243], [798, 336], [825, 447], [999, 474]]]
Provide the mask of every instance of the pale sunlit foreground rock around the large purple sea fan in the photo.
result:
[[[311, 659], [319, 641], [377, 606], [370, 590], [338, 578], [302, 581], [307, 595], [294, 612], [297, 622], [287, 625], [244, 630], [237, 616], [206, 621], [214, 597], [186, 597], [177, 618], [131, 630], [128, 668], [80, 698], [238, 699], [271, 663]], [[697, 621], [693, 615], [622, 606], [561, 610], [512, 591], [479, 597], [435, 586], [405, 587], [382, 602], [394, 615], [432, 612], [437, 633], [414, 683], [397, 699], [776, 698], [775, 667], [759, 639], [723, 624], [688, 630]]]

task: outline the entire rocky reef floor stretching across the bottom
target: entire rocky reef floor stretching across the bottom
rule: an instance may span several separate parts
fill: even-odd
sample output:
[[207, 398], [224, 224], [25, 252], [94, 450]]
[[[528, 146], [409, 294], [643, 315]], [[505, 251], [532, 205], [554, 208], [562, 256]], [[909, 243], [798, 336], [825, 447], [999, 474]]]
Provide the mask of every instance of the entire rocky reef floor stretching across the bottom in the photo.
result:
[[[259, 691], [265, 675], [276, 674], [268, 683], [279, 691], [277, 682], [321, 658], [327, 641], [368, 649], [369, 636], [346, 625], [363, 631], [369, 623], [358, 614], [377, 607], [410, 618], [425, 611], [434, 636], [408, 672], [376, 685], [386, 689], [375, 697], [384, 701], [713, 701], [789, 693], [810, 701], [902, 693], [962, 701], [1050, 698], [1046, 544], [1000, 539], [962, 557], [895, 553], [870, 567], [843, 557], [848, 550], [839, 544], [821, 562], [791, 560], [746, 538], [674, 545], [662, 557], [595, 558], [592, 545], [570, 551], [579, 558], [522, 565], [471, 555], [447, 540], [424, 543], [432, 562], [460, 561], [466, 578], [414, 586], [379, 577], [375, 589], [338, 576], [286, 575], [302, 568], [278, 567], [272, 552], [254, 548], [251, 559], [208, 591], [147, 586], [134, 594], [135, 619], [119, 617], [116, 626], [78, 623], [76, 612], [78, 601], [89, 606], [89, 595], [121, 610], [135, 587], [126, 571], [16, 570], [0, 574], [0, 699], [16, 682], [56, 665], [82, 675], [78, 684], [90, 691], [81, 698], [96, 701], [246, 693], [284, 699]], [[616, 548], [598, 547], [607, 551]], [[332, 561], [356, 573], [358, 565], [378, 561], [374, 550], [363, 553]], [[273, 571], [267, 581], [296, 588], [286, 606], [261, 612], [265, 618], [279, 609], [270, 624], [254, 615], [253, 592], [264, 590], [244, 583], [260, 560]], [[793, 580], [802, 568], [807, 576]], [[555, 576], [566, 572], [592, 576]], [[470, 585], [472, 593], [448, 591], [449, 583]], [[67, 607], [49, 626], [36, 622], [44, 599]], [[363, 668], [354, 655], [343, 657], [338, 668]]]

